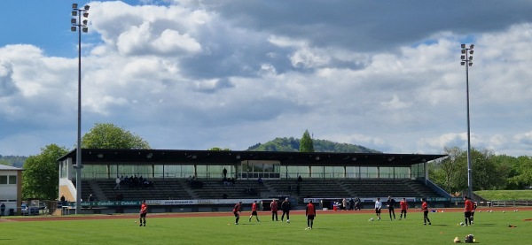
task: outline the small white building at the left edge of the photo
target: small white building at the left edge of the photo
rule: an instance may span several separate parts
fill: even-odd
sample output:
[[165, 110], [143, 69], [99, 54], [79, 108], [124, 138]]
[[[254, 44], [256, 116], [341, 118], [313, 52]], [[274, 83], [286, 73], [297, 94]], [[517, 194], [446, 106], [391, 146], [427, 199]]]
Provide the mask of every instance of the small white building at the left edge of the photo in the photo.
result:
[[4, 215], [10, 210], [20, 214], [22, 202], [22, 171], [23, 169], [8, 165], [0, 165], [0, 203], [4, 203]]

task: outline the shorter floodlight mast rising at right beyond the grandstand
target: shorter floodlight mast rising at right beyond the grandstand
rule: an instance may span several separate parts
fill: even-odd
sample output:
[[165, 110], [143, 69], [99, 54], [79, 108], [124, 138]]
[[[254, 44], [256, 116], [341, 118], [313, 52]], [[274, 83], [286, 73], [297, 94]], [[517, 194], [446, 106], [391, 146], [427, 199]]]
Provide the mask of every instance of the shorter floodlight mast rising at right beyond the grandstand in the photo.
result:
[[[465, 98], [467, 105], [467, 196], [473, 197], [473, 170], [471, 165], [471, 126], [469, 123], [469, 66], [473, 66], [473, 48], [474, 44], [461, 45], [462, 56], [460, 65], [465, 65]], [[469, 56], [468, 56], [469, 55]]]

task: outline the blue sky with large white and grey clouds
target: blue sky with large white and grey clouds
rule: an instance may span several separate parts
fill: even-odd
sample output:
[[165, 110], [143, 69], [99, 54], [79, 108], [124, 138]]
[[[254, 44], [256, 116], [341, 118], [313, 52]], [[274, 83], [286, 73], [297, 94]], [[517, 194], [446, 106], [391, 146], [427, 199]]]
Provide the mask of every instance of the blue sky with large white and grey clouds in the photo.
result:
[[[82, 134], [112, 123], [153, 149], [276, 137], [386, 153], [532, 152], [532, 1], [129, 0], [90, 5]], [[71, 3], [0, 8], [0, 155], [77, 139]], [[474, 44], [466, 76], [460, 44]], [[468, 79], [467, 79], [468, 78]], [[468, 82], [466, 82], [468, 81]]]

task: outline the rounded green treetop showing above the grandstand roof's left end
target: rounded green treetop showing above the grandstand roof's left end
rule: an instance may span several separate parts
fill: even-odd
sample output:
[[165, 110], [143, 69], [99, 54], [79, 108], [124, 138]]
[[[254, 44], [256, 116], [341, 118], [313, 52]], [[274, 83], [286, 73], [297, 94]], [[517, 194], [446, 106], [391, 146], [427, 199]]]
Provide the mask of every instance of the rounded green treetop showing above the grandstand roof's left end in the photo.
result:
[[151, 149], [148, 142], [137, 134], [114, 126], [111, 123], [97, 123], [82, 137], [83, 149]]

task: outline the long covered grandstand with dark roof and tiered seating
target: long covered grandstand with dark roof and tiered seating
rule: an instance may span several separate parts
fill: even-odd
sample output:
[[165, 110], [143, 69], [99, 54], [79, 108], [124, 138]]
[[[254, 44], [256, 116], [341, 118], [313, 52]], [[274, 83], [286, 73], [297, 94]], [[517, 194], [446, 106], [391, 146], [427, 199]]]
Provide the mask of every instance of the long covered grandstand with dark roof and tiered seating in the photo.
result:
[[[412, 205], [421, 197], [447, 205], [450, 195], [427, 178], [427, 163], [442, 157], [446, 155], [82, 149], [82, 210], [137, 212], [140, 200], [146, 200], [152, 212], [229, 211], [239, 201], [285, 197], [295, 205], [311, 198], [320, 208], [359, 197], [369, 208], [374, 199], [388, 195], [408, 198]], [[76, 200], [75, 159], [75, 149], [58, 159], [63, 213]]]

